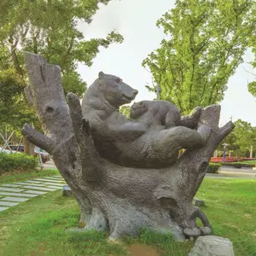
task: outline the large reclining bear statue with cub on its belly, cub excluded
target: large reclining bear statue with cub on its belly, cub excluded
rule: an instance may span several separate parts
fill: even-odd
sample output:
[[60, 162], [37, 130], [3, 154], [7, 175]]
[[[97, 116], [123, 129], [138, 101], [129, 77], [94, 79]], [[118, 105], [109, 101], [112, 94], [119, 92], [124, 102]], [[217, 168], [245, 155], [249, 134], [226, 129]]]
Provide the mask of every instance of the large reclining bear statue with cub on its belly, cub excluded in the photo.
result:
[[181, 148], [201, 148], [210, 128], [196, 130], [184, 126], [152, 130], [139, 121], [127, 119], [119, 107], [137, 96], [119, 77], [99, 73], [84, 94], [82, 111], [89, 120], [91, 134], [102, 158], [121, 166], [160, 168], [172, 166]]

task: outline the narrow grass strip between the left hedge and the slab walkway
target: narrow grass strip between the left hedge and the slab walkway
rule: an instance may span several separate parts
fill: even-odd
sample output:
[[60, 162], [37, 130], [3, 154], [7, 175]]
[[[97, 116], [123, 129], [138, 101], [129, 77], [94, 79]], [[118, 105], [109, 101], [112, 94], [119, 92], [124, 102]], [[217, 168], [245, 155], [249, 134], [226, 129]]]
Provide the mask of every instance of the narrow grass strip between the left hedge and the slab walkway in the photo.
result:
[[0, 184], [3, 183], [15, 183], [17, 181], [23, 181], [26, 179], [32, 179], [35, 177], [60, 175], [60, 172], [56, 169], [43, 169], [35, 170], [32, 172], [4, 172], [0, 175]]

